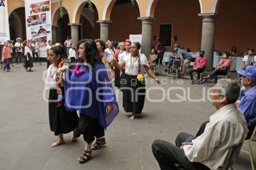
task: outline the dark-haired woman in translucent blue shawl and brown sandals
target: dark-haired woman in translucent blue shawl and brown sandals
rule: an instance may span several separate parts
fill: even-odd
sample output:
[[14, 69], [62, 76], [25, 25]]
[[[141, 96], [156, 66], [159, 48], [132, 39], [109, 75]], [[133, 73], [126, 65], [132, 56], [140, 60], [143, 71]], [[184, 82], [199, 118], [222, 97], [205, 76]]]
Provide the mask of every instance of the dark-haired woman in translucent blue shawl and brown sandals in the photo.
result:
[[78, 43], [80, 62], [73, 70], [67, 67], [65, 73], [65, 103], [67, 111], [79, 111], [80, 118], [74, 132], [75, 137], [83, 134], [85, 149], [78, 158], [87, 162], [92, 154], [92, 142], [106, 144], [105, 129], [119, 112], [117, 99], [104, 64], [101, 62], [97, 46], [93, 40]]

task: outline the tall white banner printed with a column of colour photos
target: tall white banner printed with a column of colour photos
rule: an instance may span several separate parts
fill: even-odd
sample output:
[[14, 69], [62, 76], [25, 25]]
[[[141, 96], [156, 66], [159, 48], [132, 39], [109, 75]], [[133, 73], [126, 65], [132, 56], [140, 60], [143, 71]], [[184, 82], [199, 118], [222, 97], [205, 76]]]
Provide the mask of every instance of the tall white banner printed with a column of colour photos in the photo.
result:
[[25, 13], [27, 40], [35, 40], [39, 57], [46, 57], [48, 41], [52, 40], [51, 0], [25, 0]]

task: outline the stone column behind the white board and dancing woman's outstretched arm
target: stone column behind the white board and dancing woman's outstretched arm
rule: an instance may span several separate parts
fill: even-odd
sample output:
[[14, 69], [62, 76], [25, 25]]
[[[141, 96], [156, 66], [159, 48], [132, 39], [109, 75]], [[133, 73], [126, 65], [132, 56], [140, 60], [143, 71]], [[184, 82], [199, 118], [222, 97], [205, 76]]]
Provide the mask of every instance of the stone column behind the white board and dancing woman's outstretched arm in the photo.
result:
[[142, 21], [142, 41], [141, 53], [145, 54], [149, 59], [152, 46], [152, 24], [155, 17], [138, 17]]

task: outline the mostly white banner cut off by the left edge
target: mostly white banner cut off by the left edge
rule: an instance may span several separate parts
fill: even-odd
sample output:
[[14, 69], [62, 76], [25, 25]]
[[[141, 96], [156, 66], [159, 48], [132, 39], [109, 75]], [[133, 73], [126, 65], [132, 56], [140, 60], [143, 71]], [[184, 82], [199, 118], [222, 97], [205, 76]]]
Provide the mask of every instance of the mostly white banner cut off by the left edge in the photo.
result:
[[9, 17], [7, 10], [7, 1], [0, 0], [0, 44], [10, 40]]

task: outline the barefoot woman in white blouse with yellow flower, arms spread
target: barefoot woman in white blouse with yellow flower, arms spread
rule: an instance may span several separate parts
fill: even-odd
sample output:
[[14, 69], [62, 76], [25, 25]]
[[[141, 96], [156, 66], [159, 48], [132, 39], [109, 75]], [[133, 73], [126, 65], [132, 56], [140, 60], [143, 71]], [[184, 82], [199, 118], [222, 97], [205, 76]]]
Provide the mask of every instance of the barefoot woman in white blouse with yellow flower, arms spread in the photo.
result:
[[135, 115], [141, 114], [144, 107], [146, 91], [145, 79], [142, 75], [144, 69], [156, 83], [160, 84], [160, 80], [155, 77], [149, 68], [145, 54], [139, 54], [140, 47], [139, 42], [132, 43], [130, 54], [123, 57], [121, 63], [118, 63], [116, 59], [113, 60], [113, 65], [119, 70], [125, 68], [125, 81], [121, 81], [123, 87], [123, 108], [124, 111], [132, 113], [130, 120], [134, 120]]

